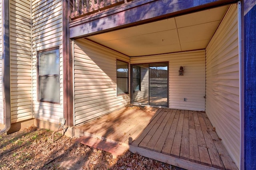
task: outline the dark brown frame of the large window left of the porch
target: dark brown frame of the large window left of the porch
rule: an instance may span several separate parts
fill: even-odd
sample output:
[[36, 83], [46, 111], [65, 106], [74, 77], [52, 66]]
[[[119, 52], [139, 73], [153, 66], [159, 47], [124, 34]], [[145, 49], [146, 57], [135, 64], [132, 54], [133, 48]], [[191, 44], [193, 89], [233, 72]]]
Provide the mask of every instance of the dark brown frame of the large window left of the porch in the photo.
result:
[[[50, 103], [50, 104], [59, 104], [60, 105], [60, 98], [59, 98], [59, 101], [58, 102], [50, 102], [50, 101], [46, 101], [46, 100], [42, 100], [39, 98], [39, 91], [40, 91], [40, 84], [39, 84], [39, 77], [40, 77], [40, 74], [39, 74], [39, 54], [40, 53], [44, 53], [44, 52], [48, 52], [48, 51], [53, 51], [53, 50], [57, 50], [58, 49], [58, 53], [59, 53], [59, 72], [58, 74], [46, 74], [46, 75], [50, 75], [50, 76], [59, 76], [59, 89], [60, 89], [60, 47], [59, 46], [56, 46], [56, 47], [51, 47], [51, 48], [48, 48], [48, 49], [43, 49], [43, 50], [40, 50], [40, 51], [37, 51], [37, 54], [36, 54], [36, 67], [37, 67], [37, 72], [36, 72], [36, 78], [37, 78], [37, 101], [38, 102], [44, 102], [44, 103]], [[45, 76], [45, 75], [44, 75]], [[41, 76], [41, 77], [44, 77], [44, 76]], [[60, 93], [59, 93], [59, 97], [60, 97]]]

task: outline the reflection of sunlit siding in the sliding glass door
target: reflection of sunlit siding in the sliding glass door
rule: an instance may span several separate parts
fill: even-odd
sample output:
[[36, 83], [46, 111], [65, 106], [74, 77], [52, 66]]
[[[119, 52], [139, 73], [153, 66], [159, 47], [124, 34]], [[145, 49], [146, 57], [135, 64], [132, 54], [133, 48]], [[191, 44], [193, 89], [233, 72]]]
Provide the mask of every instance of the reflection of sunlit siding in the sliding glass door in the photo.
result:
[[147, 100], [148, 102], [148, 77], [149, 77], [149, 70], [148, 70], [148, 65], [140, 66], [140, 75], [141, 75], [141, 90], [136, 91], [133, 93], [133, 102], [138, 102], [140, 103], [141, 100]]

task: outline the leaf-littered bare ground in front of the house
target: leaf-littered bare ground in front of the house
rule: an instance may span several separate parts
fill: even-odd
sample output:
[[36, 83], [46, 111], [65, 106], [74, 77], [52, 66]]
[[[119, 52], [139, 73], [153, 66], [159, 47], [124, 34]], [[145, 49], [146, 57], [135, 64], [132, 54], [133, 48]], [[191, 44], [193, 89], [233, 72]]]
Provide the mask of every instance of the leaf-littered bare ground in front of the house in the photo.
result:
[[0, 135], [0, 169], [181, 170], [129, 151], [114, 159], [59, 133], [52, 143], [52, 131], [34, 126]]

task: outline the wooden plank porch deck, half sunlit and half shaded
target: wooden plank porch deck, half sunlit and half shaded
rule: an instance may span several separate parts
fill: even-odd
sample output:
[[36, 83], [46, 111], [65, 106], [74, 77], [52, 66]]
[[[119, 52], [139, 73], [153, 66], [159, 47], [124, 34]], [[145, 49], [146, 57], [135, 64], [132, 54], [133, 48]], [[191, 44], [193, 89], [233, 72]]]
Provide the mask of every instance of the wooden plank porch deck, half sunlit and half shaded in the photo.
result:
[[76, 129], [181, 168], [237, 169], [204, 112], [132, 106]]

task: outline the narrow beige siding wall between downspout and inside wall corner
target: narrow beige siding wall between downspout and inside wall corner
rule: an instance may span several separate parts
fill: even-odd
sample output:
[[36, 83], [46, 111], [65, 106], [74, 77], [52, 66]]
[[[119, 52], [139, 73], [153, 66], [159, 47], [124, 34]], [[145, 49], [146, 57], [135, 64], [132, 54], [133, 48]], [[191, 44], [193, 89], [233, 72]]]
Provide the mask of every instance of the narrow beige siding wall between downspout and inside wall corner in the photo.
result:
[[32, 118], [30, 0], [10, 0], [11, 123]]

